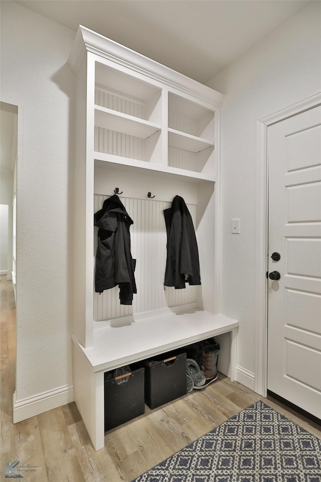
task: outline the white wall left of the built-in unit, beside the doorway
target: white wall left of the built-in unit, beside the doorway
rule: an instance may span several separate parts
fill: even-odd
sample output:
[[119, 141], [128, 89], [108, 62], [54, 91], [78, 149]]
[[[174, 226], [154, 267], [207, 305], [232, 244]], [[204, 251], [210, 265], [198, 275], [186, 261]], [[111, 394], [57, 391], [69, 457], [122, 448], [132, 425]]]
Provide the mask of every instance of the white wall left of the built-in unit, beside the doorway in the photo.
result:
[[15, 2], [1, 3], [1, 100], [18, 105], [15, 407], [21, 418], [72, 397], [74, 109], [66, 61], [74, 36]]

